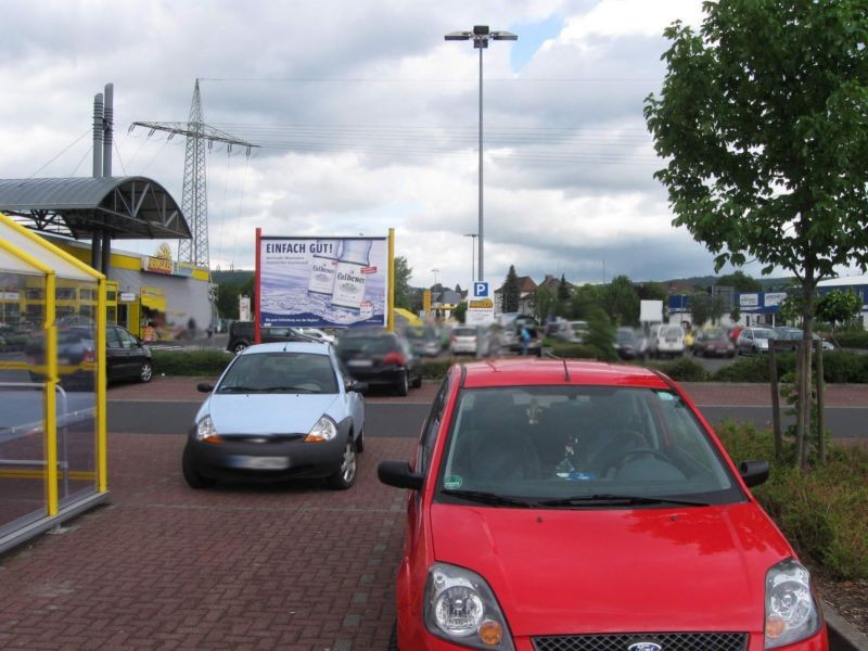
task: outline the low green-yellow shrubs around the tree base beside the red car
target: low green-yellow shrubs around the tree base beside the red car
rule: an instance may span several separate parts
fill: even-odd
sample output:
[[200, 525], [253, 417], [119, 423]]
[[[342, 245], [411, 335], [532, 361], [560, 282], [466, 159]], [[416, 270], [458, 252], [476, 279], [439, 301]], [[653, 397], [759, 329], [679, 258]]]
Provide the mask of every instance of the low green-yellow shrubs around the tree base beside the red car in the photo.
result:
[[717, 434], [737, 463], [771, 463], [754, 495], [800, 556], [841, 579], [868, 577], [868, 449], [832, 445], [825, 465], [801, 472], [791, 459], [774, 462], [767, 430], [725, 422]]

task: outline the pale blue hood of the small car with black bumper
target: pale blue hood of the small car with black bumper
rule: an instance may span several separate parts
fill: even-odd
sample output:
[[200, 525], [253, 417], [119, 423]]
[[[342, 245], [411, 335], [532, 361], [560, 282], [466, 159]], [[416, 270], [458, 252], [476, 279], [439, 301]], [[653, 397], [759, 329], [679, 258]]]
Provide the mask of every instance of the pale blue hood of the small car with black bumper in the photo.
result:
[[196, 414], [210, 414], [220, 434], [307, 434], [339, 394], [231, 394], [208, 396]]

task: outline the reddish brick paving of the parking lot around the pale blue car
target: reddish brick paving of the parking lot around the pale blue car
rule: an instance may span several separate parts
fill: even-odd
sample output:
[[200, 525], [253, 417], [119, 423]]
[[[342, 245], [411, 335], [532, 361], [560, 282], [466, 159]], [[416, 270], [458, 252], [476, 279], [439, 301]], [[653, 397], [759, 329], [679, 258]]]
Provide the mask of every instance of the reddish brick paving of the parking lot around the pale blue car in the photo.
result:
[[[196, 379], [112, 387], [118, 399], [196, 400]], [[701, 405], [764, 405], [746, 384], [684, 384]], [[425, 383], [409, 398], [430, 401]], [[832, 386], [827, 404], [868, 405]], [[0, 557], [0, 648], [37, 650], [385, 649], [394, 620], [405, 492], [381, 485], [383, 459], [414, 441], [369, 432], [348, 492], [319, 483], [192, 490], [182, 436], [110, 434], [108, 506]]]

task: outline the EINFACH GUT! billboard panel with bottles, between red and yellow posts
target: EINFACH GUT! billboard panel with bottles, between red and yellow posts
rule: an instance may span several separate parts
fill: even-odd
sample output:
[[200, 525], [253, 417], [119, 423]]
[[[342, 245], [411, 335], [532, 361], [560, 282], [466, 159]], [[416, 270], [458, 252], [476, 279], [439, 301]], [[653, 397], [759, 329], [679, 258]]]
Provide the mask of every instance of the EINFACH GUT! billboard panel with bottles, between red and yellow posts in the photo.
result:
[[259, 324], [385, 326], [387, 238], [259, 239]]

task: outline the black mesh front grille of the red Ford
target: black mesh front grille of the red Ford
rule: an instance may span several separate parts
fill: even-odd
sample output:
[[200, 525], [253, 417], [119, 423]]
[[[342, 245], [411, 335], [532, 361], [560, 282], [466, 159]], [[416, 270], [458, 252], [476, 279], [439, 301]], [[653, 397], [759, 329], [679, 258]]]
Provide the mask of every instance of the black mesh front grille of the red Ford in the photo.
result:
[[639, 642], [653, 642], [661, 651], [744, 651], [748, 648], [748, 635], [743, 633], [622, 633], [532, 639], [535, 651], [627, 651]]

